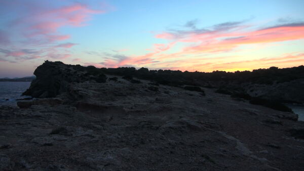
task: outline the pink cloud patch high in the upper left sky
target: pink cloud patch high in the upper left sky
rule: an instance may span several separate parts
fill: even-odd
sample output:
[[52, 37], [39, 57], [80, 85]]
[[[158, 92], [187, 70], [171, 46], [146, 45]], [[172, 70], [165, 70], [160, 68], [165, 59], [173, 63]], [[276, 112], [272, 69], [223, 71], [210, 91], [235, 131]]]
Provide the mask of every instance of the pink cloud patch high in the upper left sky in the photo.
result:
[[38, 10], [16, 24], [24, 25], [25, 31], [28, 32], [25, 35], [29, 37], [43, 36], [49, 41], [60, 41], [66, 40], [70, 36], [60, 36], [59, 28], [85, 26], [86, 22], [91, 19], [91, 15], [104, 12], [103, 10], [92, 10], [85, 4], [76, 3], [57, 9]]

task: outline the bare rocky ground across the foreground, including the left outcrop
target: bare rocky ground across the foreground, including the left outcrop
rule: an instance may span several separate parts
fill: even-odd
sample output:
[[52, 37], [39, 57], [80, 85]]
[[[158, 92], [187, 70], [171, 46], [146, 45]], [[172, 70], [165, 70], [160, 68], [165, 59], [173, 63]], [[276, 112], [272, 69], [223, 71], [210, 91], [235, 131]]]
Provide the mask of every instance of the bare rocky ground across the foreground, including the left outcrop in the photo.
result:
[[304, 122], [246, 99], [39, 66], [0, 107], [0, 170], [301, 170]]

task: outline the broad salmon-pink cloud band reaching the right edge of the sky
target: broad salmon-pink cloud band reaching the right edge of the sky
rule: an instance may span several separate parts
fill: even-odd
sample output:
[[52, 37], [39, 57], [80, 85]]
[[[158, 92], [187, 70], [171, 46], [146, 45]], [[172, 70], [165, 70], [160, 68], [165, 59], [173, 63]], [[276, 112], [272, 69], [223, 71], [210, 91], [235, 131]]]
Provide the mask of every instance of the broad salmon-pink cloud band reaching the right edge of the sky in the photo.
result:
[[[164, 33], [163, 33], [164, 34]], [[162, 37], [164, 38], [164, 37]], [[171, 39], [167, 38], [168, 40]], [[210, 31], [204, 33], [187, 32], [178, 42], [198, 42], [199, 45], [188, 46], [182, 51], [155, 56], [157, 59], [169, 59], [176, 55], [196, 54], [196, 53], [220, 53], [235, 50], [237, 47], [246, 44], [273, 43], [291, 40], [304, 39], [304, 24], [284, 25], [271, 27], [256, 31]], [[172, 47], [172, 46], [171, 46]], [[158, 58], [159, 57], [159, 58]]]

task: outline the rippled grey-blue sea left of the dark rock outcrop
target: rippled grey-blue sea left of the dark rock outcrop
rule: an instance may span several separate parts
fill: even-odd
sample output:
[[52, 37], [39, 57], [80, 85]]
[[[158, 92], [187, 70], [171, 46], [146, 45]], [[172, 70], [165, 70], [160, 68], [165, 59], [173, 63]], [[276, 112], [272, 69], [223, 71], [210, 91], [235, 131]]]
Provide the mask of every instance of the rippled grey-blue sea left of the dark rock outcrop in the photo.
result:
[[[0, 105], [14, 102], [29, 87], [30, 82], [0, 82]], [[7, 100], [8, 99], [8, 100]]]

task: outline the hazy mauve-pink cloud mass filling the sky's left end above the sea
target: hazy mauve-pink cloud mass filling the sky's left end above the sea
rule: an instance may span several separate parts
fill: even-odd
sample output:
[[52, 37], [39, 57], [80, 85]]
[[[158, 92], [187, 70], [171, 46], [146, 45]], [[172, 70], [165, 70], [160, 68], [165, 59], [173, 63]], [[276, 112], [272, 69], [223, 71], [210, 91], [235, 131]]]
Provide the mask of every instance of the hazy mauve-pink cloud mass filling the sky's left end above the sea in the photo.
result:
[[[58, 6], [59, 4], [65, 5]], [[92, 9], [86, 4], [69, 2], [15, 1], [4, 3], [4, 5], [9, 9], [6, 13], [14, 11], [18, 18], [8, 20], [3, 24], [8, 32], [4, 33], [0, 30], [0, 44], [6, 45], [4, 49], [7, 50], [6, 57], [24, 56], [15, 60], [36, 59], [35, 56], [54, 59], [69, 58], [71, 54], [66, 49], [77, 44], [58, 43], [71, 38], [71, 35], [62, 34], [60, 28], [85, 26], [93, 15], [105, 12], [101, 9], [102, 6], [98, 6], [99, 9]], [[17, 40], [14, 40], [16, 38]], [[16, 47], [39, 50], [28, 53]]]

